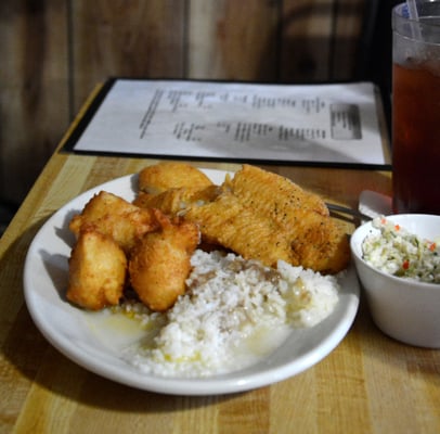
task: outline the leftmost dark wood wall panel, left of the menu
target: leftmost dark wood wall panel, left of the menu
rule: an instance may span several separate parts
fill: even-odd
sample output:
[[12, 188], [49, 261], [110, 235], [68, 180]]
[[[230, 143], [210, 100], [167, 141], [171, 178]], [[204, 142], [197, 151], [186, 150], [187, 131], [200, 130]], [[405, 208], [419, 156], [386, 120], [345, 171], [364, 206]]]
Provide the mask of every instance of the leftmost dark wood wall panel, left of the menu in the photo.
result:
[[0, 3], [0, 196], [21, 202], [68, 125], [66, 8]]

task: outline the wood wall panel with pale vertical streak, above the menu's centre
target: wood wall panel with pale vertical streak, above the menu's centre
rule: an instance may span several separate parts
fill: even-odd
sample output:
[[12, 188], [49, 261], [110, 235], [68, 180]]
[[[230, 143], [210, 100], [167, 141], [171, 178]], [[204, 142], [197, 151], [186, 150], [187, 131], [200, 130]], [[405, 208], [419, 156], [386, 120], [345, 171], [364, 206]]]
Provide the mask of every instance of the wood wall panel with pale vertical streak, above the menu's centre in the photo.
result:
[[190, 0], [189, 77], [276, 81], [279, 3]]

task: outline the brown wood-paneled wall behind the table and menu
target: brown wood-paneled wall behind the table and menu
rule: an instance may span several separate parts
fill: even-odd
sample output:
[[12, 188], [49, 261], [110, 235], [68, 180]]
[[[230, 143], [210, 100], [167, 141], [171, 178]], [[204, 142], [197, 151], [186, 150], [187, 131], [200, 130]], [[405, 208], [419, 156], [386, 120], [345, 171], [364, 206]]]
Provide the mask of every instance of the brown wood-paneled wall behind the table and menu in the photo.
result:
[[351, 79], [368, 1], [1, 1], [0, 199], [23, 200], [108, 76]]

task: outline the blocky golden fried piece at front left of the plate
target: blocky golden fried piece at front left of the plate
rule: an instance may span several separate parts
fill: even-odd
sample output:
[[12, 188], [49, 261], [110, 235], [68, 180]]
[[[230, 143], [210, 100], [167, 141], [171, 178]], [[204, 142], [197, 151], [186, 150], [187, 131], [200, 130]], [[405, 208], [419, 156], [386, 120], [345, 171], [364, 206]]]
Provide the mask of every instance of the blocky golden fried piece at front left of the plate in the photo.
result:
[[117, 305], [126, 283], [127, 258], [109, 237], [81, 231], [68, 260], [67, 299], [85, 309]]

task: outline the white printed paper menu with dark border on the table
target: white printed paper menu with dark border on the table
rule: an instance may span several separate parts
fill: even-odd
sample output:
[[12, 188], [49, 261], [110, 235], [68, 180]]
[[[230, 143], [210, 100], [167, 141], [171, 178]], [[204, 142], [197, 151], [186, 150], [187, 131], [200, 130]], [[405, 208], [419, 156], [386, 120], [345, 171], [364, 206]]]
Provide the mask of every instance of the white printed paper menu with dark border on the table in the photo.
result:
[[117, 79], [69, 146], [224, 161], [387, 165], [373, 84]]

